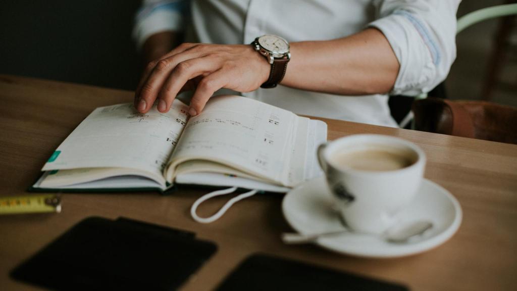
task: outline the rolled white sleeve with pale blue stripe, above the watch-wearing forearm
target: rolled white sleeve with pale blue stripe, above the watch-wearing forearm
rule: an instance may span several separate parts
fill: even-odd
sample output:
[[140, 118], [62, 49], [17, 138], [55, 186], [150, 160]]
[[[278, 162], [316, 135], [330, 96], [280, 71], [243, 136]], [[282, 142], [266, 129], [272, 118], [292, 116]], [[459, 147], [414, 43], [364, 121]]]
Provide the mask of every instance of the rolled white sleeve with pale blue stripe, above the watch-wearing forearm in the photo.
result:
[[442, 82], [456, 57], [460, 0], [379, 0], [369, 24], [388, 39], [400, 63], [393, 95], [419, 95]]

